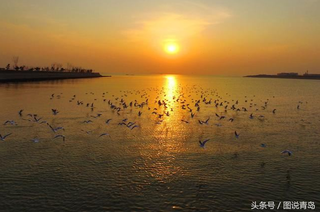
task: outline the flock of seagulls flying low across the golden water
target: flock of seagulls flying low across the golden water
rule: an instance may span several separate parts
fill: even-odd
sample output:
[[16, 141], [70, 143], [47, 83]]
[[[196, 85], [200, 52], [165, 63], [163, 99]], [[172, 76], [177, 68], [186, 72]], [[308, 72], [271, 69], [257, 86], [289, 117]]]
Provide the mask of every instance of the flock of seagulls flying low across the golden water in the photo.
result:
[[[191, 88], [191, 91], [190, 91]], [[227, 100], [223, 100], [222, 96], [219, 95], [219, 93], [216, 91], [216, 89], [203, 89], [203, 88], [199, 88], [196, 87], [196, 85], [193, 85], [189, 88], [189, 95], [185, 94], [184, 89], [182, 86], [179, 86], [175, 92], [169, 92], [166, 91], [166, 89], [162, 88], [147, 88], [147, 89], [142, 89], [142, 90], [128, 90], [128, 91], [120, 91], [121, 93], [121, 97], [115, 97], [114, 95], [108, 95], [108, 92], [103, 92], [102, 93], [102, 99], [103, 102], [106, 103], [108, 105], [108, 107], [110, 108], [110, 110], [114, 113], [114, 116], [116, 117], [120, 117], [121, 113], [123, 111], [128, 111], [128, 109], [130, 109], [131, 113], [136, 113], [136, 119], [139, 119], [139, 117], [143, 116], [145, 113], [148, 113], [148, 116], [151, 116], [154, 120], [155, 123], [157, 125], [161, 125], [163, 122], [166, 121], [165, 117], [169, 117], [171, 116], [171, 113], [174, 112], [174, 110], [181, 110], [182, 113], [185, 114], [184, 117], [189, 117], [189, 118], [184, 118], [181, 119], [182, 123], [185, 124], [189, 124], [191, 121], [195, 121], [197, 122], [199, 125], [208, 125], [209, 121], [210, 121], [210, 117], [207, 118], [206, 120], [200, 120], [200, 119], [196, 119], [196, 114], [200, 112], [200, 110], [202, 109], [202, 107], [206, 107], [206, 108], [216, 108], [219, 110], [223, 110], [223, 115], [220, 115], [215, 113], [214, 116], [216, 117], [216, 119], [218, 121], [223, 121], [223, 120], [227, 120], [227, 122], [229, 123], [233, 123], [234, 121], [236, 121], [234, 118], [234, 116], [230, 117], [230, 118], [226, 118], [226, 114], [228, 114], [228, 111], [234, 111], [235, 113], [242, 111], [242, 112], [249, 112], [248, 114], [250, 114], [248, 116], [248, 119], [259, 119], [260, 121], [264, 121], [264, 116], [263, 115], [254, 115], [255, 112], [261, 111], [261, 110], [266, 110], [269, 107], [269, 99], [266, 100], [260, 100], [259, 103], [254, 103], [254, 97], [249, 98], [248, 96], [245, 96], [245, 101], [243, 102], [244, 104], [246, 104], [246, 107], [240, 107], [240, 101], [239, 100], [231, 100], [231, 101], [227, 101]], [[155, 91], [156, 92], [156, 97], [152, 102], [149, 102], [148, 99], [150, 97], [150, 95], [148, 95], [148, 92], [151, 91]], [[52, 93], [49, 98], [50, 99], [54, 99], [54, 98], [61, 98], [64, 97], [62, 96], [63, 93], [60, 93], [59, 95], [55, 95], [54, 93]], [[90, 93], [86, 93], [86, 94], [95, 94], [94, 92], [90, 92]], [[125, 98], [128, 97], [128, 95], [136, 95], [136, 96], [140, 96], [140, 99], [142, 100], [137, 100], [134, 99], [132, 101], [126, 101]], [[176, 94], [176, 95], [174, 95]], [[197, 96], [197, 98], [192, 98], [192, 94], [195, 94]], [[105, 96], [110, 96], [109, 99], [107, 99]], [[228, 93], [226, 93], [226, 95], [228, 95]], [[112, 97], [111, 97], [112, 96]], [[211, 98], [209, 98], [209, 96]], [[230, 95], [229, 95], [230, 96]], [[274, 96], [273, 96], [274, 97]], [[84, 101], [76, 99], [77, 95], [73, 95], [70, 99], [69, 102], [75, 102], [75, 105], [77, 105], [78, 107], [88, 107], [91, 111], [94, 111], [96, 109], [95, 103], [94, 102], [90, 102], [90, 103], [84, 103]], [[163, 98], [163, 99], [162, 99]], [[187, 100], [189, 99], [189, 100]], [[191, 99], [191, 100], [190, 100]], [[97, 100], [96, 98], [94, 100]], [[259, 105], [260, 104], [260, 105]], [[298, 102], [297, 105], [297, 110], [300, 109], [300, 105], [302, 104], [302, 101]], [[154, 106], [154, 108], [153, 108]], [[151, 107], [153, 109], [151, 109]], [[251, 111], [251, 112], [250, 112]], [[60, 111], [57, 109], [51, 109], [51, 113], [53, 116], [59, 116]], [[276, 109], [272, 109], [272, 112], [275, 114], [276, 113]], [[53, 139], [62, 139], [63, 141], [65, 141], [66, 136], [64, 136], [63, 134], [58, 134], [56, 135], [56, 133], [59, 132], [64, 132], [65, 129], [63, 127], [52, 127], [50, 123], [48, 123], [47, 121], [44, 121], [43, 118], [39, 117], [37, 114], [27, 114], [27, 117], [30, 118], [26, 118], [24, 116], [24, 110], [20, 110], [18, 112], [19, 117], [21, 118], [21, 120], [25, 121], [25, 122], [30, 122], [30, 123], [37, 123], [39, 125], [45, 124], [48, 129], [50, 129], [54, 135], [52, 136]], [[92, 115], [91, 116], [93, 119], [98, 119], [103, 117], [103, 114], [98, 113], [96, 115]], [[108, 125], [109, 123], [111, 123], [111, 121], [113, 121], [115, 118], [112, 119], [107, 119], [104, 123], [106, 125]], [[136, 128], [140, 128], [141, 126], [136, 124], [136, 121], [129, 121], [128, 118], [124, 118], [124, 119], [120, 119], [122, 121], [120, 121], [118, 123], [119, 126], [124, 126], [127, 127], [128, 129], [130, 129], [131, 131], [136, 129]], [[92, 120], [84, 120], [83, 122], [81, 122], [81, 124], [90, 124], [93, 123]], [[12, 126], [17, 126], [18, 124], [13, 121], [13, 120], [8, 120], [4, 123], [4, 125], [12, 125]], [[222, 125], [220, 123], [216, 123], [215, 124], [218, 127], [221, 127]], [[86, 133], [86, 134], [92, 134], [93, 131], [86, 131], [81, 129], [82, 132]], [[0, 140], [2, 141], [6, 141], [7, 138], [12, 135], [11, 133], [6, 134], [6, 135], [1, 135], [0, 134]], [[103, 136], [109, 136], [111, 137], [111, 135], [109, 135], [108, 133], [102, 133], [101, 135], [99, 135], [100, 137]], [[235, 139], [239, 139], [240, 134], [237, 133], [236, 131], [234, 131], [234, 137]], [[34, 143], [38, 143], [40, 140], [39, 138], [33, 138], [30, 139], [31, 141], [33, 141]], [[199, 141], [199, 146], [201, 148], [205, 148], [205, 145], [207, 144], [207, 142], [210, 139], [206, 139], [204, 141]], [[267, 147], [267, 144], [262, 143], [260, 145], [263, 148]], [[289, 156], [292, 155], [292, 151], [289, 150], [284, 150], [281, 152], [282, 154], [288, 154]]]

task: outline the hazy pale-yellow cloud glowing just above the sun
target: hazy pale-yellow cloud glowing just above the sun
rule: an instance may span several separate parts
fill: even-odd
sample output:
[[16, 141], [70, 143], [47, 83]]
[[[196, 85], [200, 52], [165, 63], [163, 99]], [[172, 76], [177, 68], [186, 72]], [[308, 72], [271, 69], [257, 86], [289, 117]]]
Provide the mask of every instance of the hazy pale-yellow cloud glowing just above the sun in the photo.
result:
[[135, 17], [132, 28], [125, 30], [124, 35], [130, 41], [184, 40], [231, 17], [231, 13], [225, 9], [193, 2], [171, 5], [162, 10], [167, 12], [146, 13]]

